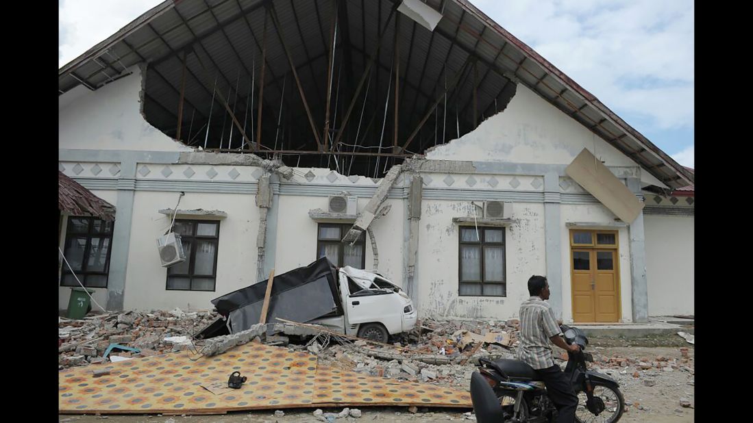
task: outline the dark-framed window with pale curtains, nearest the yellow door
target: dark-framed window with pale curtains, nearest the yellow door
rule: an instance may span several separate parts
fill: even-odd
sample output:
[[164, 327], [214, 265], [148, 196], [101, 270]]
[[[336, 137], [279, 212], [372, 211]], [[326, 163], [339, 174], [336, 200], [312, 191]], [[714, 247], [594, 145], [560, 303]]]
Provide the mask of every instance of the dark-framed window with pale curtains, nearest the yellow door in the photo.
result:
[[507, 297], [505, 228], [460, 227], [459, 294]]

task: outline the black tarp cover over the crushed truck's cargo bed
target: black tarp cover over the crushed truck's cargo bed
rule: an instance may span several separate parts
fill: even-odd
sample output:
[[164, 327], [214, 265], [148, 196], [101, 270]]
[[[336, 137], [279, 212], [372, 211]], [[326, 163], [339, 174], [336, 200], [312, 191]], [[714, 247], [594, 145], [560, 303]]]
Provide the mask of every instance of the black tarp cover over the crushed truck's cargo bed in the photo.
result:
[[[212, 300], [217, 311], [230, 318], [233, 333], [259, 322], [268, 282], [267, 279]], [[305, 322], [331, 314], [343, 315], [343, 305], [337, 291], [337, 269], [327, 257], [274, 275], [268, 323], [275, 323], [275, 318]]]

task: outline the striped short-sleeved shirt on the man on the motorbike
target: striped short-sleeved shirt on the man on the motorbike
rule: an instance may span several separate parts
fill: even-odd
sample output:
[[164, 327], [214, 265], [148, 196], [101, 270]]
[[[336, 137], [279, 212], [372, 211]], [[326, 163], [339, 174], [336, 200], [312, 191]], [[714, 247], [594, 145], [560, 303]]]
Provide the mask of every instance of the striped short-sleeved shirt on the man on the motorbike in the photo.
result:
[[535, 370], [554, 365], [550, 337], [562, 335], [554, 311], [541, 297], [531, 297], [520, 305], [520, 345], [517, 356]]

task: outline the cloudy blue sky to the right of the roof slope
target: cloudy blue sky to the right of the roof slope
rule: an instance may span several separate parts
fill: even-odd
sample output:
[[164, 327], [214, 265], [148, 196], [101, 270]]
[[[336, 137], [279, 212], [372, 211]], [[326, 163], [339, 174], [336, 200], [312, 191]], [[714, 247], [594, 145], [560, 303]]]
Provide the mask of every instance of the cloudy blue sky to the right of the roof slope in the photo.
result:
[[694, 127], [692, 0], [474, 5], [618, 114], [648, 117], [657, 129]]

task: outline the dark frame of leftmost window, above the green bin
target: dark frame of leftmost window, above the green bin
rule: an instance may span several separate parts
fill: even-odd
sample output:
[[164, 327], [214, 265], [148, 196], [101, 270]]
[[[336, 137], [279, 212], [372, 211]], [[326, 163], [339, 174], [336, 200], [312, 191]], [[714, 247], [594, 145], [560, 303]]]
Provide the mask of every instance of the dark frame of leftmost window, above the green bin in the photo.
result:
[[[75, 230], [72, 230], [72, 224], [75, 219], [84, 219], [88, 221], [88, 227], [87, 232], [77, 232]], [[109, 232], [94, 232], [94, 222], [100, 221], [102, 224], [110, 224], [110, 230]], [[61, 216], [61, 224], [62, 224], [62, 216]], [[78, 282], [72, 282], [71, 284], [66, 284], [64, 282], [66, 275], [73, 275], [75, 274], [76, 277], [78, 277], [78, 280], [81, 281], [81, 283], [84, 285], [84, 288], [107, 288], [108, 284], [110, 283], [110, 256], [112, 254], [112, 234], [115, 230], [115, 222], [114, 221], [104, 221], [102, 219], [96, 218], [94, 216], [68, 216], [66, 218], [66, 237], [63, 240], [63, 254], [66, 255], [66, 257], [69, 257], [69, 239], [71, 237], [80, 237], [80, 236], [86, 236], [87, 242], [84, 245], [84, 254], [82, 255], [81, 259], [81, 270], [75, 270], [71, 271], [69, 269], [68, 265], [66, 263], [63, 263], [62, 268], [60, 269], [60, 287], [80, 287], [81, 285], [78, 285]], [[87, 267], [89, 266], [89, 254], [91, 252], [91, 245], [92, 245], [92, 238], [100, 238], [100, 239], [108, 239], [108, 248], [107, 248], [107, 257], [105, 257], [105, 266], [104, 270], [102, 271], [91, 271], [88, 270]], [[87, 279], [90, 275], [98, 275], [98, 276], [105, 276], [105, 285], [104, 286], [91, 286], [87, 285]]]

